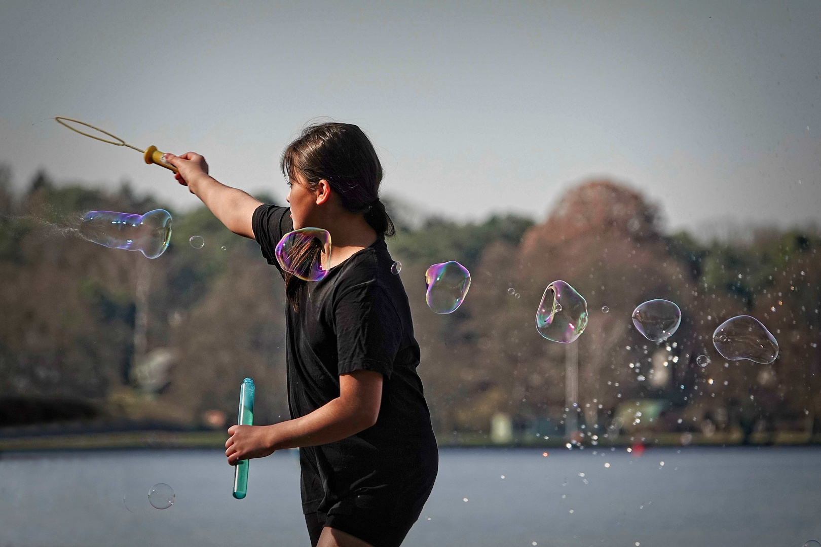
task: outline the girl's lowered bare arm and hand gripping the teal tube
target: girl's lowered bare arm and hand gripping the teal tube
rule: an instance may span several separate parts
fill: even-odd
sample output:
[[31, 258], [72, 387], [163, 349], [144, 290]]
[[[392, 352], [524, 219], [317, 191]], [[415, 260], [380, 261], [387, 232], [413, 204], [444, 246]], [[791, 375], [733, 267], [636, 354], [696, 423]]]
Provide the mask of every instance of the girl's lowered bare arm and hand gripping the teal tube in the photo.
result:
[[382, 404], [382, 374], [355, 371], [339, 376], [339, 397], [295, 420], [273, 426], [231, 426], [228, 463], [264, 458], [274, 450], [333, 443], [376, 423]]

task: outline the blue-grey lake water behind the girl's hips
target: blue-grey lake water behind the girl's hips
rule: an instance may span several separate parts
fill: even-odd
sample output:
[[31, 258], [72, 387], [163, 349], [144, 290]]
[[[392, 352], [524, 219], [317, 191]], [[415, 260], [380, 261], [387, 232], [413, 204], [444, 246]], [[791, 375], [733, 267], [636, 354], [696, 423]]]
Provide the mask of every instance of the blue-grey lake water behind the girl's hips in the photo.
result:
[[[821, 540], [819, 448], [548, 452], [442, 449], [433, 494], [404, 545]], [[0, 546], [309, 545], [295, 451], [253, 460], [243, 500], [232, 498], [232, 481], [216, 450], [3, 454]], [[147, 499], [158, 482], [177, 495], [164, 511]]]

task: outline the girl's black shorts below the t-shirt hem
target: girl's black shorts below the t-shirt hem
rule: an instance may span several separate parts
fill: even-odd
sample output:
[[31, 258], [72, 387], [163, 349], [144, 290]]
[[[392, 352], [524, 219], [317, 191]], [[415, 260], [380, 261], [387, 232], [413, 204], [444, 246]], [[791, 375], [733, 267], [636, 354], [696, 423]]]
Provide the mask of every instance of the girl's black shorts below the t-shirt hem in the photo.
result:
[[328, 513], [305, 513], [311, 547], [316, 547], [324, 526], [344, 531], [374, 547], [399, 547], [410, 526], [422, 513], [436, 480], [438, 454], [420, 474], [404, 485], [388, 485], [377, 495], [355, 495], [335, 504]]

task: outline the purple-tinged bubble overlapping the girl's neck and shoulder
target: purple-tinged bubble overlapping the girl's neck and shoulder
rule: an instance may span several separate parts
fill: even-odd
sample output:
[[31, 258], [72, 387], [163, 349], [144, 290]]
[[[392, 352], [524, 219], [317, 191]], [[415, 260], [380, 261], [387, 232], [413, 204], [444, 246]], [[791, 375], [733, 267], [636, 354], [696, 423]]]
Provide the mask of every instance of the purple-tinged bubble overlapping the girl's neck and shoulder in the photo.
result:
[[301, 228], [282, 236], [274, 250], [279, 266], [305, 281], [319, 281], [328, 275], [331, 262], [331, 235], [321, 228]]

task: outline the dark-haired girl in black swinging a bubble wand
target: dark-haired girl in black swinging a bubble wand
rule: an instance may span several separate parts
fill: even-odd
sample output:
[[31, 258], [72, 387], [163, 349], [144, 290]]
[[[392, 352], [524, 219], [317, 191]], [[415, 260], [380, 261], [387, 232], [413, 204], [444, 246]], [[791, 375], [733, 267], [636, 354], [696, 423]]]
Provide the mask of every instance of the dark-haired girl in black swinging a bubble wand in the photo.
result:
[[356, 125], [306, 128], [282, 154], [291, 207], [264, 205], [209, 177], [204, 157], [167, 154], [187, 185], [229, 230], [274, 248], [291, 230], [323, 228], [328, 275], [286, 271], [291, 420], [232, 426], [228, 463], [299, 447], [302, 511], [313, 547], [395, 547], [419, 517], [438, 451], [416, 374], [419, 344], [405, 289], [392, 275], [379, 201], [382, 166]]

